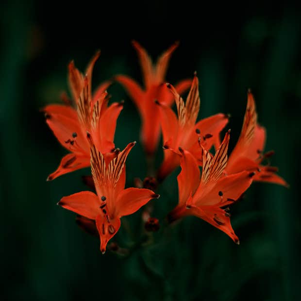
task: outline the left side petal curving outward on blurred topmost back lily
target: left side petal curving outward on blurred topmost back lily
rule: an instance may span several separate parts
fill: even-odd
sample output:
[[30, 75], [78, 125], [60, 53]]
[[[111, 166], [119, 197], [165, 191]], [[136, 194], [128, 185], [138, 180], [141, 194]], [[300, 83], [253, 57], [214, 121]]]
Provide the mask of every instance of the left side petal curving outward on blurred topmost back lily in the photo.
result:
[[116, 75], [115, 80], [124, 86], [137, 108], [141, 111], [143, 102], [145, 101], [145, 93], [141, 87], [125, 75]]

